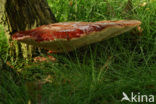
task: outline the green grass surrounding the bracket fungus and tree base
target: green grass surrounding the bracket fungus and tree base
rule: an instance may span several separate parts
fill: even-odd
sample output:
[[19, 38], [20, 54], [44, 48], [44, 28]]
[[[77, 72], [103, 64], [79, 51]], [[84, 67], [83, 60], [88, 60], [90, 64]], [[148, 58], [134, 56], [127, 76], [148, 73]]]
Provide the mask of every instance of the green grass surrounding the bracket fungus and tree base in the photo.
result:
[[[142, 35], [133, 30], [54, 55], [57, 62], [14, 65], [20, 72], [4, 64], [5, 70], [0, 70], [0, 104], [36, 104], [40, 97], [44, 104], [120, 104], [122, 92], [156, 95], [156, 1], [133, 0], [128, 11], [126, 2], [48, 0], [58, 21], [137, 19], [142, 22]], [[2, 37], [3, 31], [0, 54], [7, 60], [6, 38]]]

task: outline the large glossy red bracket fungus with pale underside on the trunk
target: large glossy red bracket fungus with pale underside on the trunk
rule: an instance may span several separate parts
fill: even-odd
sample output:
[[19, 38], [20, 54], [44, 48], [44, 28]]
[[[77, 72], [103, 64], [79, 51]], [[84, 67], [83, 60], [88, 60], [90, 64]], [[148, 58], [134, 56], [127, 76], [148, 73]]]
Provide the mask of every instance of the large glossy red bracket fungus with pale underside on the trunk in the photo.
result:
[[137, 20], [62, 22], [17, 32], [12, 35], [12, 39], [53, 52], [69, 52], [115, 37], [140, 24]]

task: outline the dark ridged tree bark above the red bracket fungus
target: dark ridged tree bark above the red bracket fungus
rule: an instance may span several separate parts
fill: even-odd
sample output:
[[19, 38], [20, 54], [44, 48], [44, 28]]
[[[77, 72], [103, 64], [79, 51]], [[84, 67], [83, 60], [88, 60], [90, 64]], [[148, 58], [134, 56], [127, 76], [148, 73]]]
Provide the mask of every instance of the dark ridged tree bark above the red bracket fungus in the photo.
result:
[[56, 22], [46, 0], [7, 0], [5, 12], [11, 33]]

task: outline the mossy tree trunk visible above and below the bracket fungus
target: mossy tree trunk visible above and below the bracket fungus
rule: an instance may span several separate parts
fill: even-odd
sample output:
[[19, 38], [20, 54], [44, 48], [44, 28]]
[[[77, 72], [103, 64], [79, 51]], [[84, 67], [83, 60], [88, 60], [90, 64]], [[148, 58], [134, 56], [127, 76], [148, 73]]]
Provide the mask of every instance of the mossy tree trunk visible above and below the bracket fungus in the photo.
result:
[[[4, 7], [3, 22], [7, 24], [10, 35], [17, 31], [56, 22], [46, 0], [1, 0], [0, 3], [1, 7]], [[16, 59], [19, 53], [22, 53], [26, 59], [32, 56], [32, 46], [12, 42], [10, 39], [9, 44], [10, 54], [16, 56]]]

